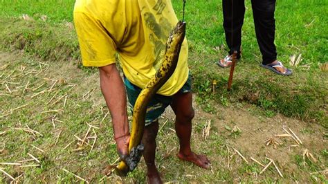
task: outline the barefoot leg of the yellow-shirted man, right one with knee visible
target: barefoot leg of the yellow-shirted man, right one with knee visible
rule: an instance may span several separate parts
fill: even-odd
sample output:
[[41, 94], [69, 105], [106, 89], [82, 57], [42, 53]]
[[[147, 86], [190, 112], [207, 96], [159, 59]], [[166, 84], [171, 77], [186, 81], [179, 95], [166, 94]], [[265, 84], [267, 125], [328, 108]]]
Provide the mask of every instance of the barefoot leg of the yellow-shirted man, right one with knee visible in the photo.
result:
[[180, 150], [177, 155], [181, 160], [190, 161], [199, 167], [208, 169], [210, 160], [204, 155], [197, 155], [190, 148], [190, 136], [192, 132], [192, 93], [176, 93], [171, 107], [176, 115], [175, 130], [179, 138]]

